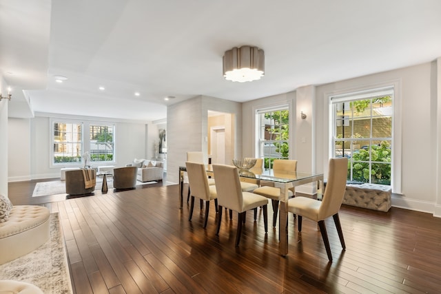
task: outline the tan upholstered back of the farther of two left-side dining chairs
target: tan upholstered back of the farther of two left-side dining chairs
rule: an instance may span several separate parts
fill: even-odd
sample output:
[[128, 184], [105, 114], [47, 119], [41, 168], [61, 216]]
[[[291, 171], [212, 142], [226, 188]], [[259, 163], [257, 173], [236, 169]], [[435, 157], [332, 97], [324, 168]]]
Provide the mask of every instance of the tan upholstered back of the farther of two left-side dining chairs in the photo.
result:
[[188, 182], [192, 196], [209, 201], [209, 185], [205, 165], [198, 162], [185, 162]]

